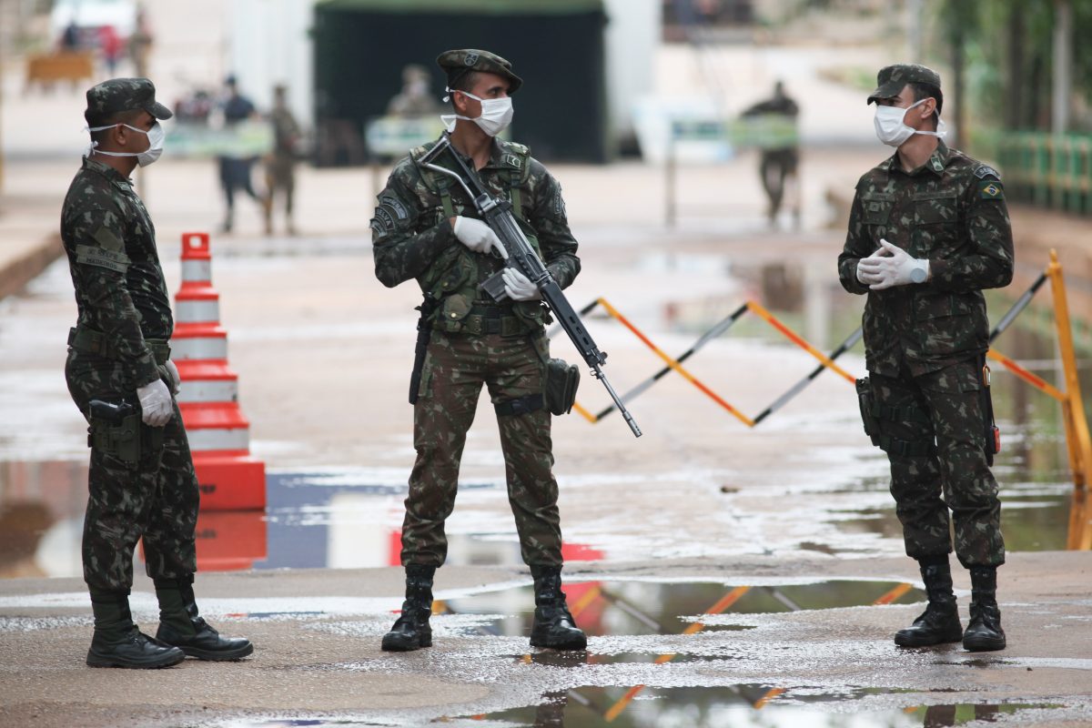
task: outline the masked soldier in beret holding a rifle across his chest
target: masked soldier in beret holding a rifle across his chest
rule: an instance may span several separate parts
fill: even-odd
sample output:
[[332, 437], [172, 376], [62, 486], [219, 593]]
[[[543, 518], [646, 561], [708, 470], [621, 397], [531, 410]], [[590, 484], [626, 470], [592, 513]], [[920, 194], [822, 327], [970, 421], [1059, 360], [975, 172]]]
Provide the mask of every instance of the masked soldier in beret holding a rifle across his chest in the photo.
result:
[[[448, 74], [454, 114], [452, 147], [496, 196], [511, 200], [529, 240], [562, 288], [580, 271], [561, 188], [527, 147], [495, 139], [511, 118], [510, 94], [522, 83], [511, 64], [484, 50], [437, 59]], [[410, 475], [402, 528], [406, 599], [383, 649], [431, 644], [432, 576], [448, 550], [444, 520], [455, 501], [459, 463], [482, 385], [497, 411], [524, 562], [535, 581], [531, 644], [583, 649], [561, 590], [561, 532], [551, 473], [550, 413], [543, 406], [546, 311], [537, 288], [509, 268], [497, 303], [478, 285], [503, 267], [500, 242], [452, 180], [418, 165], [432, 144], [414, 150], [391, 172], [371, 220], [376, 275], [387, 286], [415, 278], [430, 331], [414, 404], [417, 460]], [[439, 164], [454, 166], [451, 160]], [[424, 317], [423, 317], [424, 318]]]

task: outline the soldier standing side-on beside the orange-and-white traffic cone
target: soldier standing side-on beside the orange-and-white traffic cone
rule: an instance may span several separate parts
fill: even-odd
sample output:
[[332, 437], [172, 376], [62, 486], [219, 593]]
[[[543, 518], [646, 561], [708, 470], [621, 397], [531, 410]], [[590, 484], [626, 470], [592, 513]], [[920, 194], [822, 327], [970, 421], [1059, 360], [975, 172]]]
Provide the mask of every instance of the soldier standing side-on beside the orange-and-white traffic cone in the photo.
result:
[[[79, 317], [69, 333], [69, 392], [90, 423], [91, 468], [83, 573], [91, 590], [93, 667], [152, 668], [193, 655], [238, 659], [247, 640], [221, 637], [199, 617], [193, 529], [198, 482], [170, 361], [174, 327], [155, 228], [129, 175], [163, 151], [147, 79], [114, 79], [87, 91], [92, 146], [61, 211], [61, 239]], [[159, 601], [156, 637], [129, 611], [132, 559], [143, 538]]]

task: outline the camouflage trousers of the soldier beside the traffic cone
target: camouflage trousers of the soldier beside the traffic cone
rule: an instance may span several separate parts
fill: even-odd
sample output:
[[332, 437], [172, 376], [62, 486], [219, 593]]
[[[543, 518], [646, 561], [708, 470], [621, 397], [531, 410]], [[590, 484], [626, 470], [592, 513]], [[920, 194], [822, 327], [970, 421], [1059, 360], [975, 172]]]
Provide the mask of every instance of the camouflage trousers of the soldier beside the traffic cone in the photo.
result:
[[[161, 367], [159, 371], [169, 385], [166, 370]], [[69, 350], [64, 374], [72, 399], [85, 418], [92, 399], [136, 403], [135, 384], [108, 359]], [[141, 434], [151, 429], [141, 425]], [[129, 593], [133, 550], [141, 539], [150, 577], [181, 578], [197, 571], [194, 529], [200, 491], [177, 403], [174, 417], [162, 429], [162, 446], [142, 445], [140, 460], [133, 464], [98, 447], [91, 450], [83, 578], [92, 589]]]

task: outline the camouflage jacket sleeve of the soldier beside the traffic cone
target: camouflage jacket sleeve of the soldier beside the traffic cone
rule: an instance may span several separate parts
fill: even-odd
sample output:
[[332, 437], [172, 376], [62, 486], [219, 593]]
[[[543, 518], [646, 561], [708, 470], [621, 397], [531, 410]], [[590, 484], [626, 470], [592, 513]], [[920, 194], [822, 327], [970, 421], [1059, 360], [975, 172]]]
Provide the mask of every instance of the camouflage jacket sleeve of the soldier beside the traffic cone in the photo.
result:
[[66, 236], [66, 247], [76, 296], [83, 302], [83, 323], [106, 335], [128, 375], [144, 386], [159, 379], [159, 372], [127, 286], [130, 261], [121, 220], [119, 211], [85, 211]]

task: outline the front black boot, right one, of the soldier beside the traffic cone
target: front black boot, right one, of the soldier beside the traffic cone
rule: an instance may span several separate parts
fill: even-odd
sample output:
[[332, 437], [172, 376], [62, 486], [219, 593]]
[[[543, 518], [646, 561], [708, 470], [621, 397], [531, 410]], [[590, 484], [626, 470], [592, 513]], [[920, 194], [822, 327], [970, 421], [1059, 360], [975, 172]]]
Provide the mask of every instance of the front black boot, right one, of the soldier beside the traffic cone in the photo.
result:
[[242, 659], [254, 652], [244, 637], [222, 637], [204, 618], [198, 614], [193, 597], [193, 574], [182, 578], [156, 578], [155, 596], [159, 600], [161, 642], [175, 645], [190, 657], [209, 660]]

